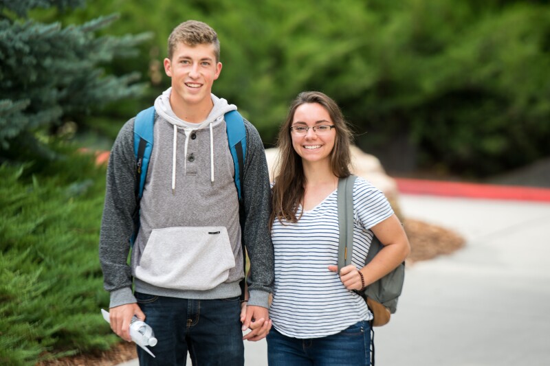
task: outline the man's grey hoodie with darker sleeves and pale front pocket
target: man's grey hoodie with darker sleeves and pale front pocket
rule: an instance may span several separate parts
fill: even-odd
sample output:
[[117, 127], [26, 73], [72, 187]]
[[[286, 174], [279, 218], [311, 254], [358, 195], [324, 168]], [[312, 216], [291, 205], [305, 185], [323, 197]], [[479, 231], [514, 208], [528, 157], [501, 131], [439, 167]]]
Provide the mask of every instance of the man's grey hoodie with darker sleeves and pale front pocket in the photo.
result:
[[[135, 290], [189, 299], [241, 294], [244, 240], [251, 262], [249, 305], [267, 307], [273, 282], [268, 229], [270, 185], [263, 144], [245, 121], [247, 150], [243, 216], [223, 115], [236, 109], [212, 95], [214, 107], [200, 124], [173, 113], [170, 89], [155, 101], [155, 144], [140, 202], [140, 230], [127, 266], [128, 239], [136, 209], [133, 122], [115, 140], [107, 168], [100, 233], [100, 262], [110, 307], [135, 302]], [[241, 232], [242, 230], [242, 232]]]

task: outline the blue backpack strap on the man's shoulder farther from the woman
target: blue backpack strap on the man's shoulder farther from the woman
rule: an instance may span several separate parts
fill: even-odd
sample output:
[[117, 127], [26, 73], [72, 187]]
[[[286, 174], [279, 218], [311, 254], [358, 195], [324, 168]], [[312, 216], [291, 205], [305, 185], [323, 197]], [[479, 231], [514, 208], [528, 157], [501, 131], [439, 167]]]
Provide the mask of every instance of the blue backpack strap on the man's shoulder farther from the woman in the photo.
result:
[[155, 123], [155, 107], [137, 113], [133, 124], [133, 150], [137, 165], [135, 196], [138, 201], [142, 198], [147, 167], [153, 151], [153, 124]]

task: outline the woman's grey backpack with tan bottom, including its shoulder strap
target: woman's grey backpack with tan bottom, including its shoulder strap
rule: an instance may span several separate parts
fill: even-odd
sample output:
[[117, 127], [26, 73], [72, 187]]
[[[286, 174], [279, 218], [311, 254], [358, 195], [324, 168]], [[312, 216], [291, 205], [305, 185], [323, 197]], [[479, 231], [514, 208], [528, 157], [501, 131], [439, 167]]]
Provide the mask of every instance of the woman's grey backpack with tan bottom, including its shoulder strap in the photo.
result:
[[[338, 250], [338, 269], [351, 264], [353, 251], [353, 183], [357, 176], [351, 175], [338, 181], [338, 226], [340, 228], [340, 247]], [[365, 264], [371, 262], [384, 245], [373, 236]], [[350, 255], [348, 255], [350, 253]], [[373, 326], [385, 325], [391, 314], [397, 310], [397, 299], [401, 295], [405, 279], [405, 262], [390, 273], [378, 279], [364, 290], [357, 291], [366, 301], [373, 313]]]

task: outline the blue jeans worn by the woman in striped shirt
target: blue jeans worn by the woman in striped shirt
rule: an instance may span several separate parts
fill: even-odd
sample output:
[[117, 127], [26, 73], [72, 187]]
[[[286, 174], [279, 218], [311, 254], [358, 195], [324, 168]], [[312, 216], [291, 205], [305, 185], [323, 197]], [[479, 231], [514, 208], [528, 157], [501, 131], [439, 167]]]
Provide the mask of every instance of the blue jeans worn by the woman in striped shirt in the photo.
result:
[[342, 332], [321, 338], [297, 339], [277, 332], [267, 334], [270, 366], [371, 365], [371, 325], [360, 321]]

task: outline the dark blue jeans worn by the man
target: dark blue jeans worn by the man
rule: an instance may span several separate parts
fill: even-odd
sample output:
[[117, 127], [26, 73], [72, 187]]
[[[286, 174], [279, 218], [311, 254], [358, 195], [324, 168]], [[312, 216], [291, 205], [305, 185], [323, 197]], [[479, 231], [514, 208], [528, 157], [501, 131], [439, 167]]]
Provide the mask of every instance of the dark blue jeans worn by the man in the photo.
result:
[[155, 358], [137, 347], [140, 365], [244, 365], [241, 300], [177, 299], [135, 293], [151, 325], [157, 345]]

